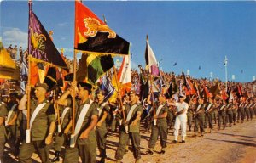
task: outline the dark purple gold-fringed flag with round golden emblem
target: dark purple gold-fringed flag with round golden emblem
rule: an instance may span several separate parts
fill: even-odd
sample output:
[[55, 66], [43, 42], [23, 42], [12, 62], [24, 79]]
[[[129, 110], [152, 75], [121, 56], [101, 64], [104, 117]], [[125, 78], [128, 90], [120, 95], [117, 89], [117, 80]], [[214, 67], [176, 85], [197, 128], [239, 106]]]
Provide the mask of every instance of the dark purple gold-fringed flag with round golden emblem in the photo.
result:
[[67, 69], [67, 64], [61, 58], [61, 55], [54, 43], [51, 41], [48, 32], [38, 20], [36, 14], [30, 10], [29, 30], [28, 30], [28, 50], [32, 59], [48, 62], [55, 66]]

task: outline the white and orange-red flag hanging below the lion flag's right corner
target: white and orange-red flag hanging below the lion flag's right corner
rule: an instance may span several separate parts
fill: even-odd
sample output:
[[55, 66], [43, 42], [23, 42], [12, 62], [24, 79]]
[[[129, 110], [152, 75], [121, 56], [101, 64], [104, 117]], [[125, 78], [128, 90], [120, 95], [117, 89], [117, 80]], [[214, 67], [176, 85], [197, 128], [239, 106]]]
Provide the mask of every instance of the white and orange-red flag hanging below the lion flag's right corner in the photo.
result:
[[119, 69], [118, 80], [121, 84], [121, 95], [124, 95], [125, 91], [131, 90], [131, 59], [130, 55], [125, 55], [122, 65]]

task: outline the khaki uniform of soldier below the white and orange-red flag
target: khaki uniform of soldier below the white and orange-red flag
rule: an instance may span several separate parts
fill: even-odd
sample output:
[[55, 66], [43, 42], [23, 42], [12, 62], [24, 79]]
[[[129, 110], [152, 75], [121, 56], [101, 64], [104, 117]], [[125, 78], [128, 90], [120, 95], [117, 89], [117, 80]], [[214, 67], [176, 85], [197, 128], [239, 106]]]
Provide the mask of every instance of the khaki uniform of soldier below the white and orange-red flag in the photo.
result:
[[[125, 119], [131, 110], [132, 105], [125, 104]], [[141, 152], [140, 152], [140, 121], [137, 121], [136, 126], [131, 126], [131, 122], [134, 121], [137, 117], [137, 112], [143, 113], [143, 105], [138, 104], [137, 107], [133, 110], [131, 114], [130, 121], [122, 122], [122, 125], [119, 129], [119, 146], [115, 153], [115, 159], [116, 160], [122, 160], [123, 156], [125, 155], [125, 147], [129, 142], [129, 138], [131, 140], [132, 145], [132, 151], [133, 155], [136, 160], [139, 160], [141, 158]], [[124, 121], [124, 117], [122, 113], [119, 113], [119, 118], [121, 118], [122, 121]], [[125, 131], [125, 126], [128, 126], [128, 132]]]

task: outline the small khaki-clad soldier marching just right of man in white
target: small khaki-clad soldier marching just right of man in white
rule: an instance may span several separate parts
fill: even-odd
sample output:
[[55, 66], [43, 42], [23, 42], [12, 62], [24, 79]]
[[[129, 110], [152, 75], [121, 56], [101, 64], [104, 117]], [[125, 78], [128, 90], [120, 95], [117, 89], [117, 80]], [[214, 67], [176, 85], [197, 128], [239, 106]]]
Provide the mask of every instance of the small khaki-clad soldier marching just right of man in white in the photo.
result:
[[195, 136], [197, 136], [198, 132], [198, 125], [200, 126], [200, 132], [201, 136], [203, 136], [205, 129], [204, 129], [204, 122], [205, 122], [205, 110], [204, 110], [204, 104], [203, 99], [198, 98], [197, 105], [195, 106], [195, 126], [194, 126], [194, 132]]

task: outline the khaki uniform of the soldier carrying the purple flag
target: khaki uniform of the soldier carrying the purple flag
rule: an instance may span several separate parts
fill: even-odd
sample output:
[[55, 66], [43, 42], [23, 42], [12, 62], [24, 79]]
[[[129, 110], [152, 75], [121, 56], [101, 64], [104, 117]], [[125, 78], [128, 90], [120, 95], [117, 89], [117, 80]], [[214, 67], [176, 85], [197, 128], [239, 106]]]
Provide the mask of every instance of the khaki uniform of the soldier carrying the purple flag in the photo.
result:
[[[38, 112], [31, 126], [31, 143], [23, 142], [21, 145], [19, 154], [20, 163], [32, 162], [32, 153], [36, 150], [42, 162], [49, 162], [49, 145], [46, 145], [44, 141], [49, 134], [50, 123], [55, 122], [55, 110], [53, 104], [50, 104], [47, 100], [44, 100], [42, 103], [46, 104]], [[37, 101], [32, 99], [31, 115], [37, 106]]]

